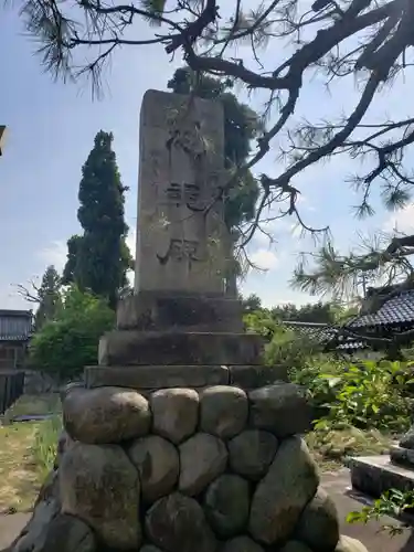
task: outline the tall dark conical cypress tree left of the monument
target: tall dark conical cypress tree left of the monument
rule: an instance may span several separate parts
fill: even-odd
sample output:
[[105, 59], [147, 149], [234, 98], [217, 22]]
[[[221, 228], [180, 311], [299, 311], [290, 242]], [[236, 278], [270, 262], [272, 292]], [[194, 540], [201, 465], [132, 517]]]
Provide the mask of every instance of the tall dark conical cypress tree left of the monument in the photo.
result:
[[83, 235], [67, 242], [67, 262], [63, 283], [76, 283], [81, 289], [106, 297], [115, 307], [118, 291], [127, 283], [131, 257], [125, 243], [125, 192], [112, 149], [114, 136], [100, 130], [82, 168], [77, 219]]

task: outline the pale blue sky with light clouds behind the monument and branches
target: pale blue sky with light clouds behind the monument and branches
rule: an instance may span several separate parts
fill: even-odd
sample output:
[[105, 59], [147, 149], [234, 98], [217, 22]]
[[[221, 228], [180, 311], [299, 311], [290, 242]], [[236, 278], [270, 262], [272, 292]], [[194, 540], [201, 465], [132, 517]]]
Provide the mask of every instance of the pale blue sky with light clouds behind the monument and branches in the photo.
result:
[[[138, 35], [148, 32], [140, 23]], [[87, 83], [64, 84], [53, 82], [42, 72], [40, 59], [33, 56], [35, 44], [23, 34], [15, 12], [7, 10], [0, 18], [0, 124], [9, 127], [3, 157], [0, 159], [0, 308], [26, 308], [12, 288], [41, 276], [49, 264], [62, 269], [66, 256], [66, 240], [78, 231], [76, 219], [77, 190], [81, 167], [99, 129], [113, 131], [114, 148], [125, 185], [130, 188], [126, 217], [134, 227], [137, 211], [138, 120], [144, 93], [148, 88], [164, 89], [179, 60], [170, 63], [161, 46], [145, 46], [118, 51], [106, 73], [105, 95], [93, 100]], [[238, 55], [248, 63], [248, 51]], [[284, 52], [286, 55], [286, 51]], [[275, 52], [267, 49], [264, 60], [275, 65]], [[270, 64], [269, 63], [269, 64]], [[309, 77], [310, 78], [310, 77]], [[375, 102], [371, 120], [386, 112], [393, 117], [410, 114], [405, 106], [407, 92], [412, 94], [413, 78], [394, 84], [392, 95], [385, 91]], [[242, 94], [242, 98], [245, 98]], [[259, 108], [261, 97], [250, 103]], [[318, 117], [348, 113], [355, 104], [355, 83], [352, 78], [333, 85], [328, 92], [318, 75], [308, 83], [298, 106], [297, 119], [307, 114]], [[392, 103], [391, 103], [392, 99]], [[282, 170], [277, 161], [277, 145], [259, 171], [277, 176]], [[359, 222], [351, 205], [357, 199], [343, 182], [352, 172], [351, 161], [337, 158], [329, 163], [310, 168], [294, 183], [302, 191], [302, 215], [309, 224], [331, 226], [338, 247], [349, 248], [358, 242], [359, 231], [375, 232], [391, 227], [395, 220], [399, 229], [406, 230], [414, 215], [410, 205], [397, 213], [379, 209], [369, 222]], [[306, 302], [309, 297], [288, 286], [299, 251], [309, 251], [312, 243], [300, 240], [293, 232], [293, 220], [274, 225], [276, 243], [269, 247], [263, 240], [252, 246], [255, 262], [268, 268], [254, 273], [243, 283], [244, 293], [256, 293], [266, 305], [283, 301]]]

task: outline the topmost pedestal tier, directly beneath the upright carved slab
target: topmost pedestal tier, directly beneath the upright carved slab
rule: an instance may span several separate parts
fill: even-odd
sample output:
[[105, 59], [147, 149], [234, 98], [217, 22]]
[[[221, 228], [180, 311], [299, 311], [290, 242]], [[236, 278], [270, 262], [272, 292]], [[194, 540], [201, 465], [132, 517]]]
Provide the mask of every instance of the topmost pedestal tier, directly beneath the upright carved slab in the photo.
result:
[[242, 304], [223, 296], [139, 291], [118, 304], [117, 328], [140, 331], [243, 331]]

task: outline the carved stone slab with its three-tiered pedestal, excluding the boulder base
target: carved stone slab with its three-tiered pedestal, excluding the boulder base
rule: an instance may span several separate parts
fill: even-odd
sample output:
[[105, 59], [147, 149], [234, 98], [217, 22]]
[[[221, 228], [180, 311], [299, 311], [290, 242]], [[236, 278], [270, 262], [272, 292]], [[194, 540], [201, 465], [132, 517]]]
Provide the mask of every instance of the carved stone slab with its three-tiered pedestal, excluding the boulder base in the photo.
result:
[[262, 339], [243, 333], [241, 302], [225, 293], [221, 103], [148, 91], [139, 150], [135, 293], [119, 302], [87, 385], [268, 383]]

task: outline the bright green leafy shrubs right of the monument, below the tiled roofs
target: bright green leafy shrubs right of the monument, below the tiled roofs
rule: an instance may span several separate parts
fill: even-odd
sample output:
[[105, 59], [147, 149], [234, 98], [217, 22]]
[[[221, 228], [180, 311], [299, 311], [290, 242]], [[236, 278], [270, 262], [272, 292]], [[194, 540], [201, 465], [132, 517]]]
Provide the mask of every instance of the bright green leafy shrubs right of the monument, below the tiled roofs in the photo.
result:
[[318, 431], [355, 427], [401, 433], [410, 425], [414, 362], [339, 360], [280, 325], [269, 310], [250, 312], [247, 331], [265, 337], [265, 362], [284, 364], [290, 381], [310, 393]]

